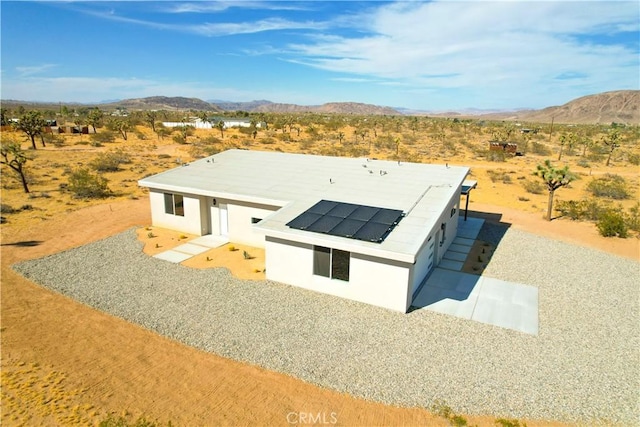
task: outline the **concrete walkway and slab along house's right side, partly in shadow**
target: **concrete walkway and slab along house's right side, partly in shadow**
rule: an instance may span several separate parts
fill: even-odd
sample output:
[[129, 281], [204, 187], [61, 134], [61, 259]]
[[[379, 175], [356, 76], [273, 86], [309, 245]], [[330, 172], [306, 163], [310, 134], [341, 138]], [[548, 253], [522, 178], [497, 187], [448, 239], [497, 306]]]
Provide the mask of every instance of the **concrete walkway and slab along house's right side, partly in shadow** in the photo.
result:
[[538, 288], [460, 271], [483, 223], [460, 220], [458, 237], [411, 305], [537, 335]]

